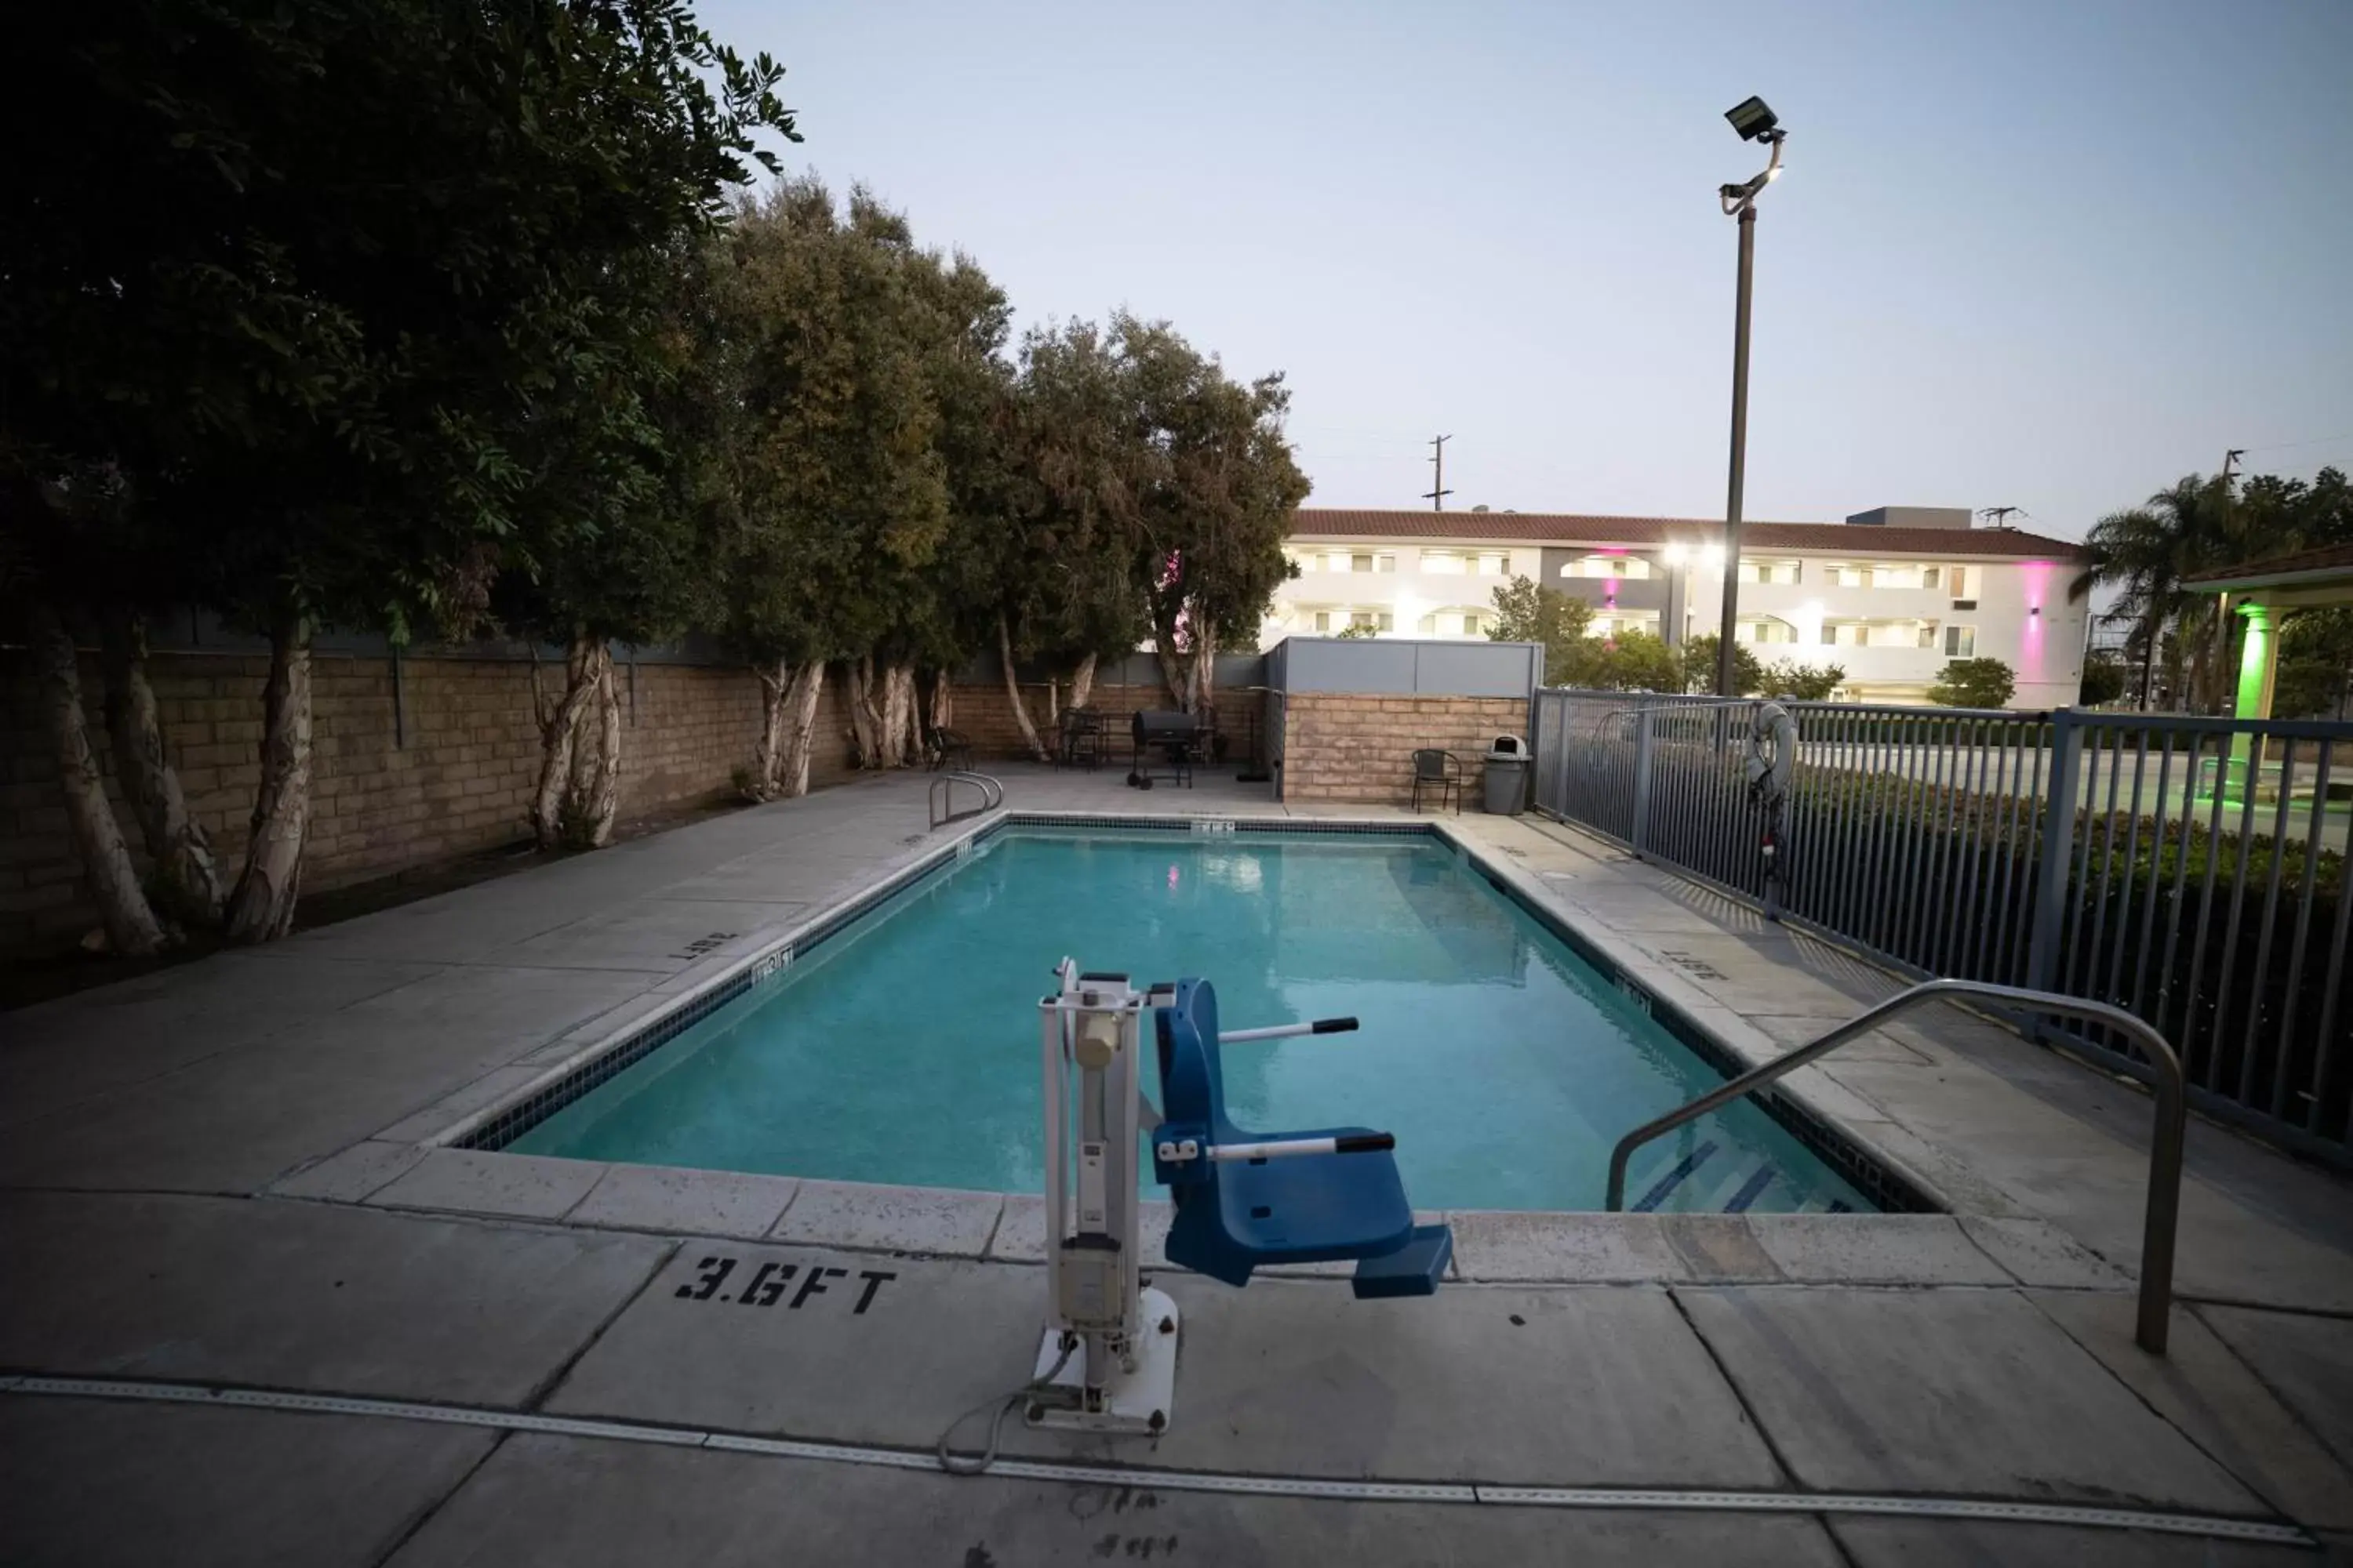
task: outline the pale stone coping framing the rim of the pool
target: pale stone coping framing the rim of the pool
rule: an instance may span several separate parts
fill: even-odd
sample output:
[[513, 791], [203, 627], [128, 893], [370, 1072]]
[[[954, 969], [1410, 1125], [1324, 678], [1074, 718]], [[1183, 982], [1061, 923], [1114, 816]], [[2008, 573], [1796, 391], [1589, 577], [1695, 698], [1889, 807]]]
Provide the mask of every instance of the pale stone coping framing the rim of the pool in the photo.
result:
[[[536, 1220], [598, 1229], [734, 1237], [741, 1241], [833, 1246], [944, 1258], [1038, 1262], [1031, 1241], [1042, 1199], [1031, 1192], [965, 1192], [840, 1182], [734, 1171], [687, 1171], [515, 1154], [482, 1147], [501, 1119], [569, 1086], [565, 1103], [635, 1065], [680, 1030], [784, 971], [849, 922], [951, 867], [1007, 827], [1101, 827], [1169, 835], [1372, 835], [1424, 837], [1459, 853], [1579, 959], [1645, 1006], [1685, 1048], [1727, 1077], [1786, 1048], [1725, 1016], [1640, 950], [1607, 931], [1584, 931], [1546, 905], [1544, 884], [1494, 846], [1440, 818], [1282, 818], [1252, 813], [1118, 816], [1101, 811], [1000, 809], [927, 846], [880, 877], [831, 900], [791, 929], [739, 954], [713, 954], [614, 1013], [605, 1013], [271, 1187], [287, 1199], [367, 1204]], [[595, 1074], [593, 1079], [586, 1074]], [[1767, 1114], [1807, 1143], [1880, 1213], [1835, 1215], [1673, 1215], [1598, 1211], [1447, 1211], [1457, 1227], [1461, 1281], [1579, 1284], [2038, 1284], [2127, 1288], [2129, 1279], [2040, 1220], [1965, 1213], [1939, 1182], [1885, 1147], [1866, 1103], [1802, 1067], [1758, 1095]], [[536, 1124], [541, 1114], [529, 1117]], [[1889, 1126], [1889, 1124], [1875, 1124]], [[508, 1131], [520, 1135], [522, 1126]], [[1866, 1180], [1857, 1180], [1868, 1173]], [[1885, 1197], [1882, 1197], [1885, 1192]], [[1148, 1206], [1153, 1208], [1153, 1206]], [[1433, 1215], [1435, 1218], [1435, 1215]], [[1151, 1225], [1146, 1229], [1153, 1229]], [[1167, 1265], [1155, 1265], [1167, 1267]], [[1346, 1272], [1339, 1265], [1299, 1269]]]

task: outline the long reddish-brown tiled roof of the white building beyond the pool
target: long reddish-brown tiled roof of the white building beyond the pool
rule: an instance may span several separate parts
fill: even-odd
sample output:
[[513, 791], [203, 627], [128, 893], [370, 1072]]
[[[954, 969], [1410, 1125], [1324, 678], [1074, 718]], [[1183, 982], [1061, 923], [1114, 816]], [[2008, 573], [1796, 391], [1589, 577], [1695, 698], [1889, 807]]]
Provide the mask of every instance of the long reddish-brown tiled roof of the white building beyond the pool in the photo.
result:
[[[1584, 512], [1377, 512], [1299, 508], [1292, 538], [1459, 538], [1515, 545], [1704, 545], [1722, 517], [1588, 517]], [[1744, 522], [1744, 550], [1849, 555], [1991, 555], [2073, 559], [2082, 545], [2019, 529], [1875, 529], [1849, 522]]]

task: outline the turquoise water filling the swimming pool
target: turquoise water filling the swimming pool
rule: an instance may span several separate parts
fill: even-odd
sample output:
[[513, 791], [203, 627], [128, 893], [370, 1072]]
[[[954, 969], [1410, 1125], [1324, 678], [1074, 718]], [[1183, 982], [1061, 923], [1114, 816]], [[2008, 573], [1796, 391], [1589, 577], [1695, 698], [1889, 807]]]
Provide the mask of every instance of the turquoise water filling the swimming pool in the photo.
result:
[[[1207, 976], [1235, 1030], [1362, 1018], [1231, 1046], [1226, 1103], [1252, 1131], [1393, 1131], [1424, 1208], [1600, 1208], [1609, 1145], [1722, 1081], [1435, 839], [1007, 830], [508, 1147], [1035, 1192], [1064, 954]], [[1753, 1105], [1649, 1145], [1626, 1197], [1871, 1208]]]

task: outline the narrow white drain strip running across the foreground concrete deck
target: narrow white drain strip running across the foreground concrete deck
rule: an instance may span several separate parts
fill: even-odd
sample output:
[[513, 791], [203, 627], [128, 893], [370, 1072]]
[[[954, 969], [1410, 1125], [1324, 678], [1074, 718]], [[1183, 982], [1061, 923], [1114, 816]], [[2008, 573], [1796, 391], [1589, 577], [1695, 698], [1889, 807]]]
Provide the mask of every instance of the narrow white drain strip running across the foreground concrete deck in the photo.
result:
[[[871, 1465], [880, 1469], [939, 1474], [939, 1462], [929, 1450], [911, 1453], [906, 1448], [868, 1448], [861, 1443], [736, 1436], [729, 1432], [656, 1427], [652, 1422], [633, 1420], [529, 1415], [522, 1410], [482, 1410], [475, 1406], [407, 1399], [282, 1394], [278, 1389], [202, 1387], [191, 1382], [115, 1382], [108, 1378], [0, 1378], [0, 1394], [132, 1399], [148, 1403], [228, 1406], [240, 1410], [296, 1410], [308, 1415], [374, 1415], [379, 1420], [419, 1420], [442, 1427], [492, 1427], [499, 1432], [536, 1432], [546, 1436], [605, 1439], [614, 1443], [659, 1443], [666, 1448], [711, 1448], [715, 1453], [758, 1453], [779, 1460], [819, 1460], [826, 1465]], [[2165, 1535], [2254, 1540], [2280, 1547], [2318, 1544], [2297, 1526], [2285, 1523], [2264, 1523], [2257, 1519], [2231, 1519], [2219, 1514], [2068, 1507], [2064, 1502], [1981, 1502], [1972, 1497], [1887, 1497], [1871, 1493], [1671, 1490], [1633, 1486], [1487, 1486], [1485, 1481], [1313, 1481], [1306, 1476], [1233, 1476], [1209, 1469], [1064, 1465], [1054, 1460], [998, 1460], [988, 1467], [988, 1476], [1002, 1481], [1068, 1481], [1075, 1486], [1151, 1486], [1155, 1490], [1219, 1493], [1233, 1497], [1325, 1497], [1341, 1502], [1449, 1502], [1485, 1507], [1659, 1509], [1701, 1514], [1878, 1514], [1892, 1519], [1969, 1519], [1995, 1523], [2061, 1523], [2097, 1530], [2158, 1530]]]

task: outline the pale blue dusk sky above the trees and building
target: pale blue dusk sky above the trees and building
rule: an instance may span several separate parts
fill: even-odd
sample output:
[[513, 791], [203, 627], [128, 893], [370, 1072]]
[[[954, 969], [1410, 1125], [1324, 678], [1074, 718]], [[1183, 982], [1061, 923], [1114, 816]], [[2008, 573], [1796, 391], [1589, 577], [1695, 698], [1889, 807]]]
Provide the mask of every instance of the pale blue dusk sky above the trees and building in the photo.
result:
[[1282, 371], [1308, 505], [1720, 517], [1762, 94], [1751, 520], [2080, 536], [2245, 447], [2353, 468], [2353, 5], [779, 5], [791, 169], [1019, 324]]

